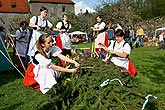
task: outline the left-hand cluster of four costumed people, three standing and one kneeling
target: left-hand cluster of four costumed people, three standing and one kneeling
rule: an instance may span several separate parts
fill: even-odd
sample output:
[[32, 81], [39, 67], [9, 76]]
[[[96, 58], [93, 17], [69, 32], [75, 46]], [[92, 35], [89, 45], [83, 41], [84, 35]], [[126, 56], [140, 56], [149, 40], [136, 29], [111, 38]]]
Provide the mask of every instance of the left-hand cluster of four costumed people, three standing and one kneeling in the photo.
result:
[[[23, 84], [32, 86], [43, 94], [57, 83], [59, 72], [75, 73], [79, 67], [79, 63], [65, 56], [71, 55], [71, 41], [68, 35], [71, 24], [67, 14], [64, 14], [62, 20], [53, 28], [52, 23], [46, 19], [47, 13], [48, 9], [41, 7], [40, 15], [30, 19], [29, 27], [33, 30], [29, 31], [28, 23], [22, 21], [15, 34], [16, 55], [23, 58], [27, 55], [30, 59]], [[52, 36], [45, 33], [45, 29], [59, 32], [56, 45], [53, 44]], [[58, 57], [63, 63], [73, 63], [75, 68], [67, 69], [64, 66], [58, 66], [52, 62], [51, 57]]]

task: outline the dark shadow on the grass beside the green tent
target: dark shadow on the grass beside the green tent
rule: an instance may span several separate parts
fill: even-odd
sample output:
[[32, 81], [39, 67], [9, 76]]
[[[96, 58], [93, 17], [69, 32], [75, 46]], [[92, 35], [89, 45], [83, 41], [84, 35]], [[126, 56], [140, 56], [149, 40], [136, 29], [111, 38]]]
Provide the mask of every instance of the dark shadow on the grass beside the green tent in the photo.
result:
[[22, 76], [16, 70], [0, 72], [0, 87], [17, 79], [22, 79]]

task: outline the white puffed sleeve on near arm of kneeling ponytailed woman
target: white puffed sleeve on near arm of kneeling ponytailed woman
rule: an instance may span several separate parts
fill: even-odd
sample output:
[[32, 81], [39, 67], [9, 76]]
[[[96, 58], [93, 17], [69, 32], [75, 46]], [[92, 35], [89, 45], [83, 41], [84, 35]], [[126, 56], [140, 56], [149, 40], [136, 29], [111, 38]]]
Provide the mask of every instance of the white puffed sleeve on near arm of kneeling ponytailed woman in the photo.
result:
[[47, 59], [41, 54], [36, 54], [35, 59], [39, 62], [40, 65], [47, 67], [47, 68], [49, 68], [49, 66], [51, 64], [51, 59]]

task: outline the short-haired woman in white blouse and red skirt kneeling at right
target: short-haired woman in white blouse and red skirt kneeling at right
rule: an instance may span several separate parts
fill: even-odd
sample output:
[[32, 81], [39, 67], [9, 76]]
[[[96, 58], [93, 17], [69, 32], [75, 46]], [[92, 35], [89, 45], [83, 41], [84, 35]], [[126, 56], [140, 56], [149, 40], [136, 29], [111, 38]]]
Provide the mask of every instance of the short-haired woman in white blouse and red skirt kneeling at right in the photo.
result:
[[122, 29], [115, 31], [115, 41], [105, 49], [108, 53], [111, 53], [111, 62], [115, 65], [125, 68], [126, 72], [132, 76], [137, 74], [136, 68], [132, 61], [128, 58], [131, 53], [130, 45], [124, 40], [125, 33]]

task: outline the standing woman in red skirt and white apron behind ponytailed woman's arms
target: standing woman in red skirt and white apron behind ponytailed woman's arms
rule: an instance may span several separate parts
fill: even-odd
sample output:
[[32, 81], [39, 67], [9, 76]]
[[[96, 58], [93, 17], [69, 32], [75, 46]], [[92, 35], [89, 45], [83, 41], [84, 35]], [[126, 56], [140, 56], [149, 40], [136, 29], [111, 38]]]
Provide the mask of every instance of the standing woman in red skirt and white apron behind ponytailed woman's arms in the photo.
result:
[[[68, 31], [71, 29], [71, 24], [68, 21], [68, 15], [64, 14], [62, 16], [62, 21], [58, 22], [56, 28], [53, 30], [59, 32], [56, 37], [56, 46], [61, 48], [63, 55], [71, 56], [71, 39], [69, 37]], [[61, 64], [64, 67], [65, 62], [61, 60]]]

